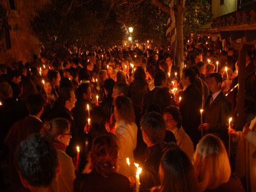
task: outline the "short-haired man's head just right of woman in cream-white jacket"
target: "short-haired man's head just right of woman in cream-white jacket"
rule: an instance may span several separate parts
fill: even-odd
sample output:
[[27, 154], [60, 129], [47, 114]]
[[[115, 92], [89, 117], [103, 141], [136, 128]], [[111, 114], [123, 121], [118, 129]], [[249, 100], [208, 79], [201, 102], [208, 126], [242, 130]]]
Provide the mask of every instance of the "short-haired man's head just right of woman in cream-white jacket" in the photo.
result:
[[166, 122], [161, 114], [149, 112], [141, 119], [141, 130], [144, 143], [148, 147], [161, 143], [166, 135]]

